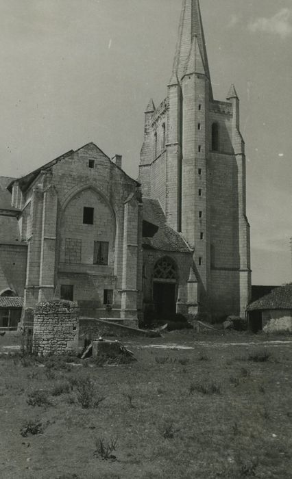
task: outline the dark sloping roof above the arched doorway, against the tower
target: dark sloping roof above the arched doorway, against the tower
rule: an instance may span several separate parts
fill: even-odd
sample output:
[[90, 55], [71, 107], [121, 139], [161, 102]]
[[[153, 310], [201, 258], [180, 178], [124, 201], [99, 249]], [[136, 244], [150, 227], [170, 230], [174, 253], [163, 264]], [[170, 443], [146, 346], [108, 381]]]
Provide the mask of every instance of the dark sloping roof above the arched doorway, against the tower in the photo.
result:
[[143, 198], [143, 220], [158, 226], [152, 237], [143, 237], [143, 247], [163, 251], [191, 253], [191, 248], [177, 231], [174, 231], [165, 220], [165, 213], [158, 200]]

